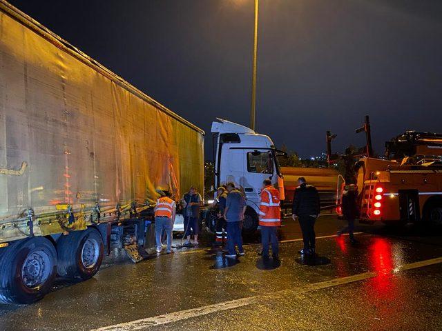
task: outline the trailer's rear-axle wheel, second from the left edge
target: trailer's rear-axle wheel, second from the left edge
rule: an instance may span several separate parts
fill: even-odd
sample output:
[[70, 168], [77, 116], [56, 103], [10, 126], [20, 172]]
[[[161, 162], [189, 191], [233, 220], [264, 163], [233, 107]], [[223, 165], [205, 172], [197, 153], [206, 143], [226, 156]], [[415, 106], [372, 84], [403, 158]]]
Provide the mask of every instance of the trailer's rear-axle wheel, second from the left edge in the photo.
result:
[[57, 252], [57, 271], [61, 277], [90, 279], [102, 265], [103, 239], [94, 228], [70, 232], [57, 241]]

